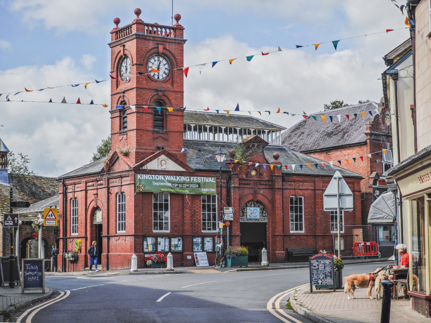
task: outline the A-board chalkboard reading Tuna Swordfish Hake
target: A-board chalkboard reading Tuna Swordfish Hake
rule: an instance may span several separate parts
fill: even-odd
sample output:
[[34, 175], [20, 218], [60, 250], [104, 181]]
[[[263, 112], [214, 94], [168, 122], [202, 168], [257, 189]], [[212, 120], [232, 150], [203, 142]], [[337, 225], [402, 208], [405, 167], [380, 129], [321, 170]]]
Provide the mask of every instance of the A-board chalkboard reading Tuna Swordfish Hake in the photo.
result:
[[25, 290], [41, 289], [45, 293], [45, 260], [31, 258], [22, 260], [22, 293]]

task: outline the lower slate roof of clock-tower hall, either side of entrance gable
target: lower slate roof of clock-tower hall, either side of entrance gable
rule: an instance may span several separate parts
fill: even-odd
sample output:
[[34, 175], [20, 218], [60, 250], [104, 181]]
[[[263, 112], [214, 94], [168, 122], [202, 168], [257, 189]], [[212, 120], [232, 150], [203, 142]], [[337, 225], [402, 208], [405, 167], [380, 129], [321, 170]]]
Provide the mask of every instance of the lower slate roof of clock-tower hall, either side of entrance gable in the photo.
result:
[[[233, 143], [184, 140], [184, 147], [189, 148], [189, 150], [186, 151], [187, 164], [196, 170], [218, 171], [220, 166], [219, 162], [215, 161], [214, 153], [218, 151], [219, 147], [221, 147], [225, 153], [228, 153], [232, 149], [232, 145]], [[193, 149], [193, 151], [190, 149]], [[201, 152], [198, 152], [198, 150], [201, 150]], [[362, 175], [344, 168], [335, 165], [331, 167], [329, 163], [325, 164], [325, 168], [323, 168], [321, 164], [323, 160], [302, 154], [287, 147], [269, 145], [265, 147], [264, 151], [265, 156], [270, 163], [274, 161], [272, 155], [275, 152], [280, 154], [278, 161], [283, 165], [289, 165], [288, 169], [285, 167], [282, 168], [283, 174], [286, 175], [332, 177], [335, 171], [338, 170], [344, 177], [362, 178]], [[228, 158], [228, 156], [226, 158]], [[314, 165], [315, 163], [318, 163], [318, 168]], [[296, 164], [294, 170], [292, 170], [290, 166], [291, 164]], [[299, 164], [302, 164], [302, 170], [299, 167]], [[306, 164], [312, 164], [311, 168]], [[222, 170], [229, 170], [229, 168], [223, 165]]]

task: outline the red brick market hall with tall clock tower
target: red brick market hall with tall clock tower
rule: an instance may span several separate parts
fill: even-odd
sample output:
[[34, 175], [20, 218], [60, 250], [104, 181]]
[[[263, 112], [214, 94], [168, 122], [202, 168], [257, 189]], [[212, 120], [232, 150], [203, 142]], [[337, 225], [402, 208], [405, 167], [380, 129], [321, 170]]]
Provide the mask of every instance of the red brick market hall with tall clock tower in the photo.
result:
[[[360, 224], [362, 177], [269, 145], [284, 130], [276, 124], [182, 108], [186, 40], [179, 15], [175, 19], [170, 27], [137, 17], [111, 31], [111, 75], [116, 78], [111, 81], [112, 150], [107, 158], [58, 177], [60, 250], [71, 249], [81, 239], [75, 270], [88, 267], [85, 253], [92, 240], [100, 246], [103, 270], [130, 268], [134, 253], [142, 268], [146, 255], [155, 251], [171, 252], [175, 266], [193, 266], [193, 252], [206, 251], [214, 264], [221, 206], [235, 210], [229, 244], [248, 246], [250, 261], [258, 260], [263, 247], [271, 262], [284, 261], [286, 247], [331, 250], [331, 215], [323, 211], [323, 192], [339, 170], [354, 193], [354, 210], [345, 224]], [[239, 138], [243, 142], [237, 146]], [[245, 146], [240, 156], [249, 164], [231, 163], [228, 155], [221, 167], [220, 191], [220, 164], [214, 153], [240, 145]], [[281, 167], [286, 164], [287, 169]], [[159, 188], [163, 178], [188, 188]], [[200, 186], [190, 186], [193, 181]], [[207, 183], [212, 188], [194, 193]], [[255, 208], [257, 217], [250, 217], [248, 208]], [[351, 230], [344, 235], [346, 250], [351, 250]], [[64, 265], [59, 263], [59, 269], [67, 270]]]

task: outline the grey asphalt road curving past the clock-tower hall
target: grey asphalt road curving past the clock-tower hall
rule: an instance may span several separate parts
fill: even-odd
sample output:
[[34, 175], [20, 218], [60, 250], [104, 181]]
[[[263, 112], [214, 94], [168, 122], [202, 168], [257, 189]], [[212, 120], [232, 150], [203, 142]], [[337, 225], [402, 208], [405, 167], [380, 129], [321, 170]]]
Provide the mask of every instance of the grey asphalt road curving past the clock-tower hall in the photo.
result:
[[[343, 276], [371, 272], [387, 264], [346, 265]], [[52, 304], [40, 306], [37, 312], [33, 307], [42, 303], [18, 310], [10, 321], [16, 322], [28, 310], [21, 322], [280, 323], [281, 320], [267, 309], [268, 301], [279, 293], [309, 283], [309, 277], [308, 269], [114, 277], [50, 276], [46, 277], [46, 286], [64, 294]], [[54, 297], [57, 296], [47, 302]], [[285, 302], [280, 303], [280, 307], [285, 308]], [[301, 315], [287, 313], [301, 322], [311, 322]]]

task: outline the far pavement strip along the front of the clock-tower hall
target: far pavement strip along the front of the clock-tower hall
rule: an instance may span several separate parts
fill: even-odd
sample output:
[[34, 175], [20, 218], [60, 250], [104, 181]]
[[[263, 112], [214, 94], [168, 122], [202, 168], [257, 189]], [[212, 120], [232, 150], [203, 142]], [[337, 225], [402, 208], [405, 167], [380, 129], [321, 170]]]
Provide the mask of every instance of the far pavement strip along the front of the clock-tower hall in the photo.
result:
[[[381, 259], [357, 259], [357, 260], [344, 260], [344, 265], [358, 265], [358, 264], [372, 264], [379, 262], [387, 262], [386, 258]], [[100, 265], [99, 265], [100, 266]], [[130, 269], [109, 270], [109, 271], [80, 271], [80, 272], [66, 272], [66, 273], [52, 273], [45, 272], [45, 276], [113, 276], [113, 275], [160, 275], [160, 274], [210, 274], [210, 273], [226, 273], [226, 272], [250, 272], [250, 271], [264, 271], [264, 270], [281, 270], [281, 269], [298, 269], [309, 268], [308, 262], [302, 263], [270, 263], [268, 267], [262, 267], [261, 263], [249, 263], [248, 267], [236, 268], [218, 268], [218, 267], [175, 267], [174, 271], [166, 271], [166, 268], [141, 268], [137, 272], [131, 272]]]

